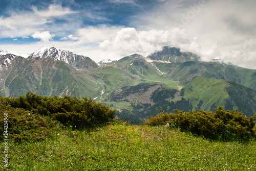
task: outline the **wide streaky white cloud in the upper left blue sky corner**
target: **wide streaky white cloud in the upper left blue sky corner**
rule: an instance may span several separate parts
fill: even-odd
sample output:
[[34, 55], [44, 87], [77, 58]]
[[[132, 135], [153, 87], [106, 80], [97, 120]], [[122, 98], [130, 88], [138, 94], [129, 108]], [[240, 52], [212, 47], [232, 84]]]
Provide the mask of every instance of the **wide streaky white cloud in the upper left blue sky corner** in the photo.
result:
[[[73, 22], [67, 15], [76, 12], [69, 8], [62, 8], [60, 5], [50, 5], [46, 10], [37, 10], [32, 7], [33, 11], [17, 10], [10, 11], [9, 17], [0, 16], [0, 37], [27, 37], [37, 31], [51, 30], [56, 32], [65, 32], [67, 29], [66, 23], [62, 24], [65, 27], [53, 22], [55, 17], [69, 20], [68, 28], [72, 29], [70, 22]], [[77, 22], [78, 23], [78, 22]], [[58, 25], [58, 26], [56, 26]], [[57, 29], [56, 29], [57, 28]], [[65, 29], [64, 29], [65, 28]]]

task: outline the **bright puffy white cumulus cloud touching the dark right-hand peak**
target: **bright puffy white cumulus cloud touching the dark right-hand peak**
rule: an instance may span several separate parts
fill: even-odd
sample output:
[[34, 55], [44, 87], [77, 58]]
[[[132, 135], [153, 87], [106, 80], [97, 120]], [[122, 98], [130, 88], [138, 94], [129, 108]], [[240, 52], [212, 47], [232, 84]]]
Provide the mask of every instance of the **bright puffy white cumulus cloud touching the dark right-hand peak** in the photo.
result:
[[109, 54], [108, 57], [115, 56], [116, 58], [134, 53], [147, 56], [166, 45], [183, 48], [191, 45], [197, 46], [197, 43], [186, 38], [184, 29], [137, 31], [135, 28], [123, 28], [117, 32], [115, 37], [99, 44], [101, 49]]

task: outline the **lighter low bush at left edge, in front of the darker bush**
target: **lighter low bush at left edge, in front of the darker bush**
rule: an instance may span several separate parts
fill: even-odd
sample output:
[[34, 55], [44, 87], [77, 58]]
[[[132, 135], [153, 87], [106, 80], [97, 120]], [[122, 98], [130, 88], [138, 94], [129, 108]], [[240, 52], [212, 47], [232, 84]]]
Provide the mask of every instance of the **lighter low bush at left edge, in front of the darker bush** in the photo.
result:
[[[48, 116], [41, 116], [22, 108], [0, 105], [0, 118], [4, 118], [4, 113], [8, 113], [7, 121], [0, 119], [0, 125], [8, 124], [8, 132], [4, 127], [0, 129], [0, 139], [4, 139], [7, 133], [9, 139], [20, 140], [42, 140], [51, 135], [51, 128], [55, 127], [56, 121]], [[6, 138], [5, 138], [6, 139]]]

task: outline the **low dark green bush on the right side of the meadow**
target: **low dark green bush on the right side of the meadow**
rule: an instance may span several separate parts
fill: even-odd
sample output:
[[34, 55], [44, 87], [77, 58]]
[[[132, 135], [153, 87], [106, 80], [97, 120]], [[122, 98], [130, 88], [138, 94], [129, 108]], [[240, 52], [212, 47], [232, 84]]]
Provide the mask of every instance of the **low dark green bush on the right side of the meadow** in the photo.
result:
[[179, 127], [182, 131], [190, 131], [197, 135], [203, 135], [210, 139], [232, 140], [246, 139], [255, 136], [253, 127], [255, 126], [256, 115], [249, 119], [241, 112], [225, 111], [223, 107], [215, 109], [215, 113], [203, 110], [183, 112], [175, 110], [177, 113], [163, 113], [156, 117], [151, 117], [143, 123], [144, 125], [164, 125]]

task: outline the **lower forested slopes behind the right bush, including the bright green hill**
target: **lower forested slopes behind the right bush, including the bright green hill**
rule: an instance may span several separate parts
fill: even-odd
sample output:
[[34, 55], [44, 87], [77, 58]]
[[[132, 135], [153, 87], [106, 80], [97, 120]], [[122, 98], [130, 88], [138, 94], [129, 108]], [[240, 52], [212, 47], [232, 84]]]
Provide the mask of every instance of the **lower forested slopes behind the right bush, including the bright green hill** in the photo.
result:
[[[125, 86], [108, 96], [104, 104], [122, 107], [117, 117], [131, 124], [139, 124], [149, 116], [157, 113], [174, 112], [179, 109], [214, 111], [218, 106], [226, 110], [238, 109], [246, 116], [256, 113], [256, 91], [245, 86], [218, 79], [197, 77], [181, 91], [166, 88], [164, 84], [141, 83], [136, 86]], [[126, 106], [118, 106], [125, 104]]]

